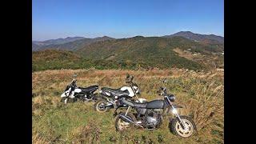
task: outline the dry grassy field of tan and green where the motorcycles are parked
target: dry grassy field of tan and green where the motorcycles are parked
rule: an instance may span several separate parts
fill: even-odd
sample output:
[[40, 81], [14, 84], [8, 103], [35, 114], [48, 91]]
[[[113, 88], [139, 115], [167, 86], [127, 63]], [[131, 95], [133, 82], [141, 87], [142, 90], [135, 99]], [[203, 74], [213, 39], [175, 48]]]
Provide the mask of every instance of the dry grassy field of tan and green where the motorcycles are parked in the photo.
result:
[[[113, 111], [99, 114], [93, 102], [64, 105], [60, 94], [77, 74], [78, 86], [124, 86], [134, 76], [141, 98], [160, 99], [157, 91], [166, 78], [167, 90], [185, 108], [198, 128], [191, 138], [179, 138], [168, 128], [168, 117], [158, 130], [114, 129]], [[33, 143], [224, 143], [224, 80], [222, 70], [46, 70], [32, 73]]]

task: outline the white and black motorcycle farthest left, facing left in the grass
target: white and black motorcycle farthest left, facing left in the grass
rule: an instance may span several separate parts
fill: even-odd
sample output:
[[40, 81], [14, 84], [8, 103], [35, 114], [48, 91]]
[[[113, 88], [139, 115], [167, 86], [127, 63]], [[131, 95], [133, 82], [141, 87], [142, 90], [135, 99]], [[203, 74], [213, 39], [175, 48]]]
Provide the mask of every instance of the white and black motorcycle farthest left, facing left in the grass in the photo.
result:
[[[76, 77], [76, 75], [74, 75]], [[94, 91], [98, 90], [98, 86], [89, 86], [86, 88], [77, 86], [77, 79], [73, 78], [70, 85], [66, 86], [64, 93], [61, 95], [61, 102], [65, 104], [68, 102], [76, 102], [82, 100], [83, 102], [96, 101], [97, 97]]]

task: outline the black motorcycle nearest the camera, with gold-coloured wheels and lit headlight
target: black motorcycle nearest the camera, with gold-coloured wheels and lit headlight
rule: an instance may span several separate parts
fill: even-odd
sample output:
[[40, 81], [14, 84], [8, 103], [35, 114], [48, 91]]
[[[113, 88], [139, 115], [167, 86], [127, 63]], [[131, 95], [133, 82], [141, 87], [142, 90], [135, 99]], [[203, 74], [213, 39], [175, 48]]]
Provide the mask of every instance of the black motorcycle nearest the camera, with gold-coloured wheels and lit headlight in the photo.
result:
[[[166, 82], [166, 81], [164, 81]], [[115, 119], [115, 128], [117, 131], [126, 130], [130, 126], [138, 126], [147, 130], [157, 129], [162, 124], [162, 118], [165, 113], [172, 110], [174, 118], [169, 122], [169, 129], [174, 134], [186, 138], [190, 137], [196, 131], [196, 126], [193, 120], [185, 115], [178, 114], [178, 108], [182, 106], [174, 105], [174, 94], [167, 94], [166, 87], [161, 87], [160, 92], [163, 99], [153, 100], [150, 102], [131, 102], [124, 98], [119, 99], [123, 105], [127, 105], [126, 112], [121, 112]], [[134, 110], [130, 113], [129, 110]]]

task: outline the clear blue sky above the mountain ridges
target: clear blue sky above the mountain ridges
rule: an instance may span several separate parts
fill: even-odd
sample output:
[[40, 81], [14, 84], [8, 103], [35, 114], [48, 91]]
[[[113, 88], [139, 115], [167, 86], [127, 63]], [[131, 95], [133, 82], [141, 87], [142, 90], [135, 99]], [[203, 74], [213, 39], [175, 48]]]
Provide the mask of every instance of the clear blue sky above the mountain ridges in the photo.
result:
[[33, 40], [129, 38], [190, 30], [224, 36], [224, 0], [33, 0]]

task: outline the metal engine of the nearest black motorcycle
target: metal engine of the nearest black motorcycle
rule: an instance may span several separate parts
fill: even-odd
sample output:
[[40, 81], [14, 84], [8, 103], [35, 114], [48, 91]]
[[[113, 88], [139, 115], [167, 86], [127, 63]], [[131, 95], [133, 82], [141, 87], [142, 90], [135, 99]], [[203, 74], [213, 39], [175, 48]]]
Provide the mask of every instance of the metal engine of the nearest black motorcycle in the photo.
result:
[[160, 110], [146, 110], [144, 122], [148, 129], [158, 127], [162, 122], [162, 114], [160, 114]]

